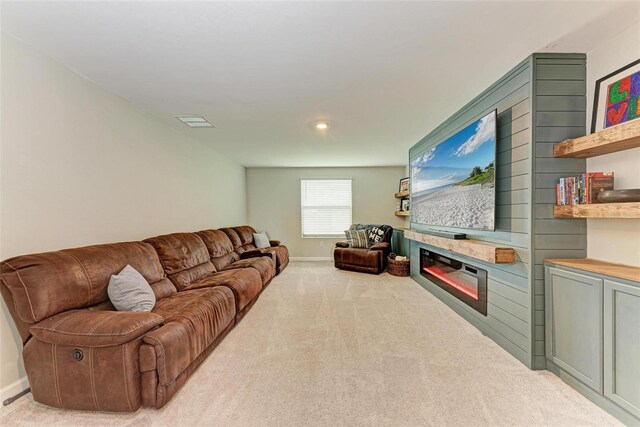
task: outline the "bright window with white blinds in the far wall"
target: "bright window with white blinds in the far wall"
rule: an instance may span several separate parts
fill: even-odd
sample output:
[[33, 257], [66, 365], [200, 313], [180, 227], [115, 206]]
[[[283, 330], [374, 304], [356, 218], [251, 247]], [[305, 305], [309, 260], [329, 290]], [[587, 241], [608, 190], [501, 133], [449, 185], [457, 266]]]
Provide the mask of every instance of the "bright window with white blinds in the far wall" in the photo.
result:
[[343, 237], [351, 225], [350, 179], [300, 181], [302, 237]]

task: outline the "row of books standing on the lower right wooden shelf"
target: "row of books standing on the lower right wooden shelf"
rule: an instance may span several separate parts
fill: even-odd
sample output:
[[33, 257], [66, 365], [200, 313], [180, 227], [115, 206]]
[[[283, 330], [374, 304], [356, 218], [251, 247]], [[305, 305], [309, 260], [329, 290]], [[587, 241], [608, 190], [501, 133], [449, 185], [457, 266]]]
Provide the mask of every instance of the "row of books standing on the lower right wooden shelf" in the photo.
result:
[[556, 184], [556, 205], [600, 203], [598, 193], [613, 190], [613, 172], [589, 172], [560, 178]]

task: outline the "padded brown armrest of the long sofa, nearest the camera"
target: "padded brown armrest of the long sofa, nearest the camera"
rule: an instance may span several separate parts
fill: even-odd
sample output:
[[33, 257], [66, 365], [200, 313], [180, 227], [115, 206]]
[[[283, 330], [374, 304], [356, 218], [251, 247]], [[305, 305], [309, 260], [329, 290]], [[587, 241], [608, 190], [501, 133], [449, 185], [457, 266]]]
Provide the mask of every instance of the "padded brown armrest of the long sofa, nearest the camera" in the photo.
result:
[[162, 322], [162, 316], [147, 312], [71, 310], [36, 323], [29, 331], [52, 344], [111, 347], [133, 341]]

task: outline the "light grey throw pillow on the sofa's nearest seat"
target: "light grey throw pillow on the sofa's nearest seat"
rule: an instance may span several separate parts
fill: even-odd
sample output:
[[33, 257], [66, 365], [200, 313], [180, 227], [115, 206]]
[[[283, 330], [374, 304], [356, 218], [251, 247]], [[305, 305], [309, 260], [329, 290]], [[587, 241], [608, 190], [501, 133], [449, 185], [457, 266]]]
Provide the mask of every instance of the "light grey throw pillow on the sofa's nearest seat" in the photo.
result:
[[118, 311], [151, 311], [156, 305], [149, 282], [130, 265], [111, 276], [107, 294]]

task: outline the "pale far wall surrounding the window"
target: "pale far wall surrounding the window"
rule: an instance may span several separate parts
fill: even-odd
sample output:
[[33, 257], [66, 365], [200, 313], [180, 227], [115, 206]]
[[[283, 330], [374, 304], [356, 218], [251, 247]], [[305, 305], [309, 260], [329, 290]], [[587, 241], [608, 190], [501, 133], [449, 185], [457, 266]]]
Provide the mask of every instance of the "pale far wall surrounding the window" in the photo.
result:
[[394, 215], [404, 166], [371, 168], [247, 168], [249, 223], [289, 248], [291, 257], [328, 258], [344, 239], [302, 238], [300, 179], [351, 178], [353, 222], [405, 227]]

